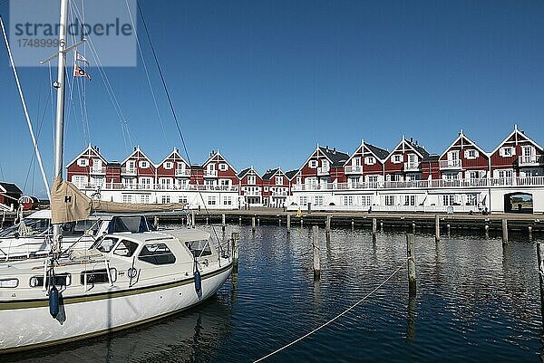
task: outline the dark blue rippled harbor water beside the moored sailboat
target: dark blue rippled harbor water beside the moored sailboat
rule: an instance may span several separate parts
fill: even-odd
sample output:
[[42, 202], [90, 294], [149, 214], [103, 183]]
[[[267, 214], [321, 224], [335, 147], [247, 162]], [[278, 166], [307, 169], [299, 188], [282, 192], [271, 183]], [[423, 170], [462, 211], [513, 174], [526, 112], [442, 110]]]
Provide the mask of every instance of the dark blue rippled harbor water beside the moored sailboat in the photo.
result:
[[[185, 227], [183, 227], [185, 228]], [[202, 227], [211, 230], [211, 227]], [[216, 227], [221, 238], [221, 227]], [[538, 362], [542, 318], [535, 244], [511, 234], [415, 234], [417, 295], [408, 293], [401, 230], [320, 233], [227, 225], [239, 232], [239, 270], [217, 296], [132, 330], [0, 357], [14, 362], [253, 362], [314, 330], [402, 269], [355, 309], [267, 362]], [[538, 236], [536, 236], [538, 237]], [[3, 321], [2, 324], [8, 322]]]

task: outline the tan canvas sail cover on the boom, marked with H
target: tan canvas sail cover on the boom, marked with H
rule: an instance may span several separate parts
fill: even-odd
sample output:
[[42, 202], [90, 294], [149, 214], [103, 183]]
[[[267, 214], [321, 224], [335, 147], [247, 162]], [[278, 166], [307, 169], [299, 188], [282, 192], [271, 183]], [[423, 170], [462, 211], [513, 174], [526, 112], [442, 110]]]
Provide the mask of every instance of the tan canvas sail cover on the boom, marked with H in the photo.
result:
[[53, 224], [83, 221], [92, 212], [105, 213], [142, 213], [171, 212], [185, 208], [183, 203], [143, 204], [116, 203], [94, 200], [86, 196], [72, 183], [55, 177], [51, 190], [51, 219]]

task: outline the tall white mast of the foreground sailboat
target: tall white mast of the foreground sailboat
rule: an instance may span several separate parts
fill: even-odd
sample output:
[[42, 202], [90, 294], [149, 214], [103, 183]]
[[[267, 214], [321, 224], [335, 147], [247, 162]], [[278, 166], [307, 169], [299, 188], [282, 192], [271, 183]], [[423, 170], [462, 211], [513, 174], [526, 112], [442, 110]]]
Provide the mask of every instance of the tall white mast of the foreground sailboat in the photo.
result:
[[[66, 38], [68, 30], [68, 0], [61, 0], [61, 18], [59, 22], [59, 52], [57, 80], [53, 83], [56, 88], [56, 122], [54, 129], [54, 167], [53, 180], [55, 177], [63, 178], [63, 148], [64, 148], [64, 81], [66, 79]], [[61, 226], [53, 225], [54, 251], [61, 248]]]

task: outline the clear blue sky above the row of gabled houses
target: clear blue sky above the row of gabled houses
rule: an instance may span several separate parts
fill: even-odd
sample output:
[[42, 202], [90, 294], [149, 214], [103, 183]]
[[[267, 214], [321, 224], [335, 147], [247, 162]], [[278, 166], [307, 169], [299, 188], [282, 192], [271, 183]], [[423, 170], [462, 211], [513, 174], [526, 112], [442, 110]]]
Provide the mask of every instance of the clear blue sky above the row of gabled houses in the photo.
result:
[[[141, 6], [193, 163], [220, 148], [238, 171], [287, 170], [299, 167], [316, 143], [351, 153], [363, 138], [393, 148], [403, 134], [442, 153], [459, 129], [489, 151], [514, 123], [544, 144], [542, 1], [145, 0]], [[5, 3], [0, 12], [7, 13]], [[0, 49], [0, 178], [23, 187], [32, 146], [4, 43]], [[147, 45], [144, 53], [165, 132], [141, 65], [106, 72], [133, 139], [159, 162], [181, 143]], [[123, 159], [120, 121], [98, 71], [89, 72], [91, 142], [109, 160]], [[20, 76], [37, 125], [48, 72], [22, 68]], [[78, 113], [67, 120], [67, 161], [87, 143]], [[49, 174], [51, 123], [46, 111], [40, 144]], [[43, 194], [37, 173], [34, 194]]]

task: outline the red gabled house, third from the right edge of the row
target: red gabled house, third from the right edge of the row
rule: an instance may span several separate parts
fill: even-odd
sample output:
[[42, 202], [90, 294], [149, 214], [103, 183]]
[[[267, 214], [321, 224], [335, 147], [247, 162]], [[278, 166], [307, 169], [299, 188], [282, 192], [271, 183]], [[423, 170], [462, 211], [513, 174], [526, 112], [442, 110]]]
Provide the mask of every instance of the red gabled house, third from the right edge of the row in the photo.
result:
[[430, 154], [417, 141], [401, 139], [384, 162], [386, 181], [410, 181], [423, 179], [423, 159]]

